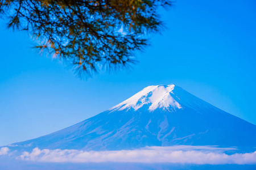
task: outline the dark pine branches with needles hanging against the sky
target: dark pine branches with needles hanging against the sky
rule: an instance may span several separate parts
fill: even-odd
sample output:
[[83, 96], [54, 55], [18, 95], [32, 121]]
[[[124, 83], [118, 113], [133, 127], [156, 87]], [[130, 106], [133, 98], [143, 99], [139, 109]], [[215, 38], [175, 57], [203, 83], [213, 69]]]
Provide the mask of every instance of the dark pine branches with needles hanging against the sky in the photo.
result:
[[168, 0], [0, 0], [8, 27], [35, 37], [36, 48], [71, 61], [91, 75], [134, 62], [134, 50], [148, 45], [146, 34], [159, 32], [158, 7]]

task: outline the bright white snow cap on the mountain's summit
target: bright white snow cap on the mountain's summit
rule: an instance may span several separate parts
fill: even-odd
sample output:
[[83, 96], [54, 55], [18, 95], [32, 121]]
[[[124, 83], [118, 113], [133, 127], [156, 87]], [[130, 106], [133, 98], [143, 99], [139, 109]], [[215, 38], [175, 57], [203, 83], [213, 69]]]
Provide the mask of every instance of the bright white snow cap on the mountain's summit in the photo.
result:
[[131, 108], [137, 111], [143, 106], [147, 106], [149, 111], [155, 111], [158, 108], [180, 109], [182, 108], [181, 105], [173, 97], [174, 93], [172, 91], [174, 88], [174, 84], [148, 86], [129, 99], [110, 108], [109, 111], [122, 111]]

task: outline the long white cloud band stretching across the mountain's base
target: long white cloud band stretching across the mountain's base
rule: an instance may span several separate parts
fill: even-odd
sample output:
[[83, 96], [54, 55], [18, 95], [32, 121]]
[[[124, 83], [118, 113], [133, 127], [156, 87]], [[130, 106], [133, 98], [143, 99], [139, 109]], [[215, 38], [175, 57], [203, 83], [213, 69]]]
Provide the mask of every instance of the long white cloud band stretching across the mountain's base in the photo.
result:
[[23, 152], [18, 158], [38, 162], [73, 163], [191, 163], [191, 164], [256, 164], [256, 151], [246, 154], [225, 154], [224, 150], [208, 146], [146, 147], [138, 150], [82, 151], [40, 150]]

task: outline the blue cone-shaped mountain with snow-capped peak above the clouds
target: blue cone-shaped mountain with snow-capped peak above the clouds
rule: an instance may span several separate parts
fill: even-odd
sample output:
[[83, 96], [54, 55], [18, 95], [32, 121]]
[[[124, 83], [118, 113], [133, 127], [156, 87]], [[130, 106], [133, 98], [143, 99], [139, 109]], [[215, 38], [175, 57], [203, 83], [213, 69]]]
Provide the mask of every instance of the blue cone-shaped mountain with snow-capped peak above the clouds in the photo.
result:
[[148, 86], [79, 124], [12, 146], [122, 150], [171, 145], [256, 147], [256, 126], [170, 84]]

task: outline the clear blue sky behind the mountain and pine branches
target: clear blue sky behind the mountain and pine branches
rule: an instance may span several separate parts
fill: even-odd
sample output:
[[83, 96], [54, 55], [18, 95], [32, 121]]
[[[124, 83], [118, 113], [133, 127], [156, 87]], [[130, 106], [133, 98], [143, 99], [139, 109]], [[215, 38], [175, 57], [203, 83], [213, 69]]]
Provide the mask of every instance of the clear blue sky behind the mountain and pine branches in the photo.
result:
[[0, 146], [46, 135], [113, 107], [142, 88], [175, 83], [256, 124], [256, 2], [177, 1], [130, 71], [81, 80], [0, 22]]

